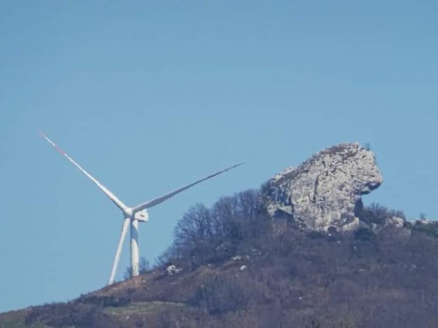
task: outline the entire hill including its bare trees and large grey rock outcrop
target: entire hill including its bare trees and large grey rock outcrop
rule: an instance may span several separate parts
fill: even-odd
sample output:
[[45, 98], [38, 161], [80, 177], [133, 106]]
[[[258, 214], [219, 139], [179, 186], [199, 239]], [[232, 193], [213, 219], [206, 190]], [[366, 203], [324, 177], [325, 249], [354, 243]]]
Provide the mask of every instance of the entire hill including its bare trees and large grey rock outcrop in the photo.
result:
[[438, 327], [438, 225], [363, 207], [374, 166], [336, 146], [261, 190], [191, 207], [153, 269], [1, 314], [0, 327]]

